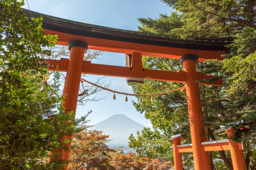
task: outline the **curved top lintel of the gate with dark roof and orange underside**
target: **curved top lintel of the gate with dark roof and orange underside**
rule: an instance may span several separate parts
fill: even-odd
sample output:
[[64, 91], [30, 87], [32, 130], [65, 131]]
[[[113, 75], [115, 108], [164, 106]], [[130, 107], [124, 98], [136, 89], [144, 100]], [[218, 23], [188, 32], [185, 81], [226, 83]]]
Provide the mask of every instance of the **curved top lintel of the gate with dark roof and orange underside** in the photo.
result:
[[[27, 14], [28, 18], [31, 15], [34, 17], [37, 12], [29, 11], [23, 9]], [[186, 53], [193, 53], [193, 50], [201, 50], [204, 51], [202, 56], [199, 55], [199, 60], [205, 59], [221, 59], [220, 55], [226, 52], [225, 45], [233, 42], [233, 38], [197, 38], [193, 40], [180, 39], [178, 36], [170, 36], [163, 34], [153, 34], [146, 32], [137, 32], [137, 31], [129, 31], [129, 30], [121, 30], [116, 28], [104, 27], [99, 25], [86, 24], [76, 21], [71, 21], [63, 18], [57, 18], [45, 14], [40, 14], [43, 19], [44, 32], [46, 34], [57, 34], [59, 35], [59, 40], [57, 44], [67, 45], [68, 41], [74, 39], [84, 40], [88, 43], [89, 49], [97, 49], [103, 51], [111, 51], [118, 53], [131, 53], [132, 51], [141, 52], [141, 55], [156, 56], [156, 57], [164, 57], [164, 58], [175, 58], [179, 59], [180, 56]], [[93, 39], [98, 40], [108, 40], [105, 43], [101, 43], [98, 48], [97, 43], [91, 43]], [[117, 44], [118, 42], [126, 43], [125, 46], [135, 45], [144, 45], [141, 46], [140, 49], [137, 49], [136, 46], [130, 47], [129, 49], [125, 49], [122, 46], [112, 46], [106, 45], [107, 43]], [[133, 43], [133, 44], [129, 44]], [[146, 46], [145, 46], [146, 45]], [[149, 45], [149, 46], [147, 46]], [[96, 48], [97, 46], [97, 48]], [[145, 48], [151, 47], [159, 47], [159, 52], [145, 52], [147, 51]], [[145, 47], [145, 48], [144, 48]], [[167, 47], [167, 48], [166, 48]], [[114, 49], [116, 48], [116, 49]], [[161, 48], [161, 49], [160, 49]], [[123, 50], [121, 50], [123, 49]], [[176, 52], [178, 50], [182, 50], [183, 52]], [[163, 51], [163, 53], [161, 51]], [[150, 51], [150, 50], [149, 50]], [[173, 51], [172, 54], [169, 54], [168, 51]], [[216, 55], [212, 57], [207, 57], [203, 55], [209, 55], [212, 53], [205, 53], [205, 51], [215, 51]], [[162, 55], [160, 55], [162, 54]], [[166, 54], [166, 55], [165, 55]]]

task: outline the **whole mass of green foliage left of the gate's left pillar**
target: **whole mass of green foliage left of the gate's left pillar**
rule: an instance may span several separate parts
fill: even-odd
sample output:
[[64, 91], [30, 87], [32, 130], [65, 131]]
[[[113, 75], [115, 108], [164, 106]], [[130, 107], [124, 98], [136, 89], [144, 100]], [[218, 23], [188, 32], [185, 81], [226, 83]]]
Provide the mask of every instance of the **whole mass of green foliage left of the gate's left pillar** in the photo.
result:
[[[44, 35], [40, 16], [28, 17], [24, 1], [0, 1], [0, 169], [60, 169], [48, 152], [65, 148], [63, 135], [81, 131], [85, 117], [63, 114], [60, 74], [50, 75], [40, 55], [51, 55], [56, 35]], [[54, 115], [54, 116], [53, 116]], [[48, 119], [50, 118], [50, 119]], [[67, 120], [72, 120], [66, 124]]]

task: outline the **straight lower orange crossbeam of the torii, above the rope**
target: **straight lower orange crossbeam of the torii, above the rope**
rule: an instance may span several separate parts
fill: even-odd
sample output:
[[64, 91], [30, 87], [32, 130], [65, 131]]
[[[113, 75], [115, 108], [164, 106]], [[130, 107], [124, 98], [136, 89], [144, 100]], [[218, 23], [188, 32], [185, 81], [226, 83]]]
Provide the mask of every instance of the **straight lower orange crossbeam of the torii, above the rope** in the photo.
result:
[[[61, 58], [60, 60], [44, 59], [44, 62], [48, 64], [47, 69], [50, 71], [62, 71], [67, 72], [68, 70], [68, 59]], [[122, 66], [111, 66], [104, 64], [93, 64], [90, 61], [83, 61], [82, 73], [84, 74], [96, 74], [96, 75], [107, 75], [116, 77], [138, 77], [148, 80], [157, 81], [172, 81], [185, 83], [187, 81], [187, 75], [185, 71], [163, 71], [163, 70], [152, 70], [143, 69], [136, 67], [122, 67]], [[204, 75], [198, 72], [198, 80], [210, 79], [215, 76]], [[207, 84], [213, 86], [222, 86], [222, 80], [215, 81], [213, 83], [199, 82], [199, 84]]]

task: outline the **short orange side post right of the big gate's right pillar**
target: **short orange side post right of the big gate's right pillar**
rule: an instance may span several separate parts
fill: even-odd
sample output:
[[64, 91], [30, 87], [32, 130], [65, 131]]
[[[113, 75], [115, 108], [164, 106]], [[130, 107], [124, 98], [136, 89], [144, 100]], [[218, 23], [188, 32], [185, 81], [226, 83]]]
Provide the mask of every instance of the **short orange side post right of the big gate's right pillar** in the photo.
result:
[[[233, 136], [232, 132], [234, 129], [227, 130], [228, 138]], [[244, 151], [239, 150], [238, 143], [228, 139], [231, 159], [234, 170], [246, 170], [245, 161], [244, 161]]]

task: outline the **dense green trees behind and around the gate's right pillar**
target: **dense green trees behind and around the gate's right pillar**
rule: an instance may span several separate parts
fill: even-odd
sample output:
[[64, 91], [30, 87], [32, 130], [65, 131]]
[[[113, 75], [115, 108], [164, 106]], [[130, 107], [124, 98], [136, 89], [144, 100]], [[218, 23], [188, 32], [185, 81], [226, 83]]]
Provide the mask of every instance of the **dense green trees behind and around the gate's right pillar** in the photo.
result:
[[[256, 123], [256, 2], [255, 1], [204, 1], [204, 0], [163, 0], [172, 7], [170, 16], [160, 14], [159, 18], [139, 18], [139, 31], [155, 32], [180, 36], [183, 39], [196, 37], [234, 37], [234, 43], [228, 45], [230, 53], [223, 55], [224, 60], [198, 62], [197, 70], [205, 74], [223, 78], [222, 87], [200, 85], [202, 110], [204, 114], [207, 140], [228, 138], [226, 132], [217, 132], [220, 125], [241, 121], [233, 125], [236, 136], [232, 140], [241, 142], [243, 137], [250, 137], [246, 142], [246, 166], [254, 169], [255, 123]], [[150, 69], [178, 71], [182, 66], [178, 60], [143, 56], [143, 67]], [[176, 82], [148, 81], [144, 84], [132, 84], [135, 93], [152, 93], [182, 87]], [[154, 157], [165, 155], [170, 160], [172, 155], [166, 138], [182, 133], [191, 143], [188, 121], [186, 93], [176, 91], [168, 95], [156, 96], [154, 102], [143, 98], [142, 103], [134, 106], [151, 120], [155, 131], [141, 131], [138, 138], [130, 137], [130, 146], [141, 155]], [[249, 126], [249, 130], [238, 130]], [[157, 131], [161, 131], [157, 132]], [[233, 169], [229, 152], [212, 152], [213, 159], [220, 158], [229, 169]], [[186, 155], [183, 155], [186, 159]], [[218, 165], [219, 166], [219, 165]], [[212, 165], [212, 169], [214, 166]]]

